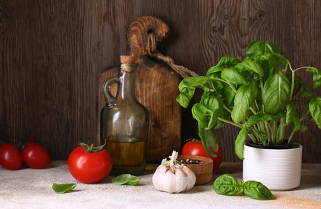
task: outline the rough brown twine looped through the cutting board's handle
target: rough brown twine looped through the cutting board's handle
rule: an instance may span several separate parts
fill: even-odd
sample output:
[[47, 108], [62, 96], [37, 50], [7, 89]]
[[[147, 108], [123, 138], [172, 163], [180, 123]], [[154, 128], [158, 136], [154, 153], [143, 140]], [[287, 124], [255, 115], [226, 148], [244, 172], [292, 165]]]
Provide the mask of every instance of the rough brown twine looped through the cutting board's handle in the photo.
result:
[[156, 40], [155, 40], [155, 34], [149, 33], [148, 34], [148, 42], [147, 42], [147, 48], [148, 48], [148, 54], [150, 56], [153, 56], [157, 59], [160, 59], [167, 63], [168, 65], [175, 70], [182, 78], [192, 77], [192, 76], [198, 76], [194, 71], [191, 71], [181, 65], [175, 65], [173, 59], [170, 56], [164, 56], [160, 52], [156, 50]]

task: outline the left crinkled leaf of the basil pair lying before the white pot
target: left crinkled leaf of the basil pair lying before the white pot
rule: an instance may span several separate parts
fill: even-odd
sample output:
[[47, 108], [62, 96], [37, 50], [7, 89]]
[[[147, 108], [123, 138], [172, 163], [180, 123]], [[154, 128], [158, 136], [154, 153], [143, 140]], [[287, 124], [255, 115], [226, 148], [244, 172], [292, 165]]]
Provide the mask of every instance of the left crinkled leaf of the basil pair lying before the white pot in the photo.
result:
[[219, 176], [214, 181], [213, 189], [217, 194], [236, 196], [244, 194], [243, 181], [237, 180], [237, 178], [230, 174], [224, 174]]

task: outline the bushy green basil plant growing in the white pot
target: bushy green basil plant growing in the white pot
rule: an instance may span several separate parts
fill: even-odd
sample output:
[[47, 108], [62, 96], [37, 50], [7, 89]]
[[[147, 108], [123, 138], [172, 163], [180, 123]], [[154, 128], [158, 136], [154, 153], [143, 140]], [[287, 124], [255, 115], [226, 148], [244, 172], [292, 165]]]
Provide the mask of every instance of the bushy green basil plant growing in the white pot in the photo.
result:
[[[196, 88], [203, 89], [201, 101], [191, 108], [198, 121], [198, 135], [209, 155], [217, 150], [216, 130], [225, 123], [240, 127], [235, 140], [235, 153], [244, 159], [246, 138], [265, 146], [283, 144], [285, 127], [293, 134], [304, 132], [304, 120], [312, 116], [321, 129], [321, 96], [313, 95], [297, 70], [313, 73], [313, 89], [321, 86], [321, 71], [313, 67], [292, 68], [280, 47], [269, 41], [253, 41], [243, 61], [224, 56], [205, 76], [188, 77], [180, 82], [176, 98], [187, 107]], [[299, 93], [300, 90], [302, 90]], [[298, 97], [293, 97], [299, 93]], [[299, 115], [296, 103], [302, 97], [306, 111]], [[297, 99], [298, 98], [298, 99]]]

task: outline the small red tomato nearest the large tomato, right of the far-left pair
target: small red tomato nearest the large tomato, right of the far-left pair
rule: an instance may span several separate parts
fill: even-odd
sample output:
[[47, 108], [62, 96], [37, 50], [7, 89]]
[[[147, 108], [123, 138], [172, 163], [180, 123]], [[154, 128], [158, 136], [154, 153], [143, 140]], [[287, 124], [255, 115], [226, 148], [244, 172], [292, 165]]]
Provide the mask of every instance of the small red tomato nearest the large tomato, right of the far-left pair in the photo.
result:
[[28, 142], [22, 150], [24, 164], [33, 169], [44, 169], [49, 163], [49, 155], [45, 148], [34, 142]]

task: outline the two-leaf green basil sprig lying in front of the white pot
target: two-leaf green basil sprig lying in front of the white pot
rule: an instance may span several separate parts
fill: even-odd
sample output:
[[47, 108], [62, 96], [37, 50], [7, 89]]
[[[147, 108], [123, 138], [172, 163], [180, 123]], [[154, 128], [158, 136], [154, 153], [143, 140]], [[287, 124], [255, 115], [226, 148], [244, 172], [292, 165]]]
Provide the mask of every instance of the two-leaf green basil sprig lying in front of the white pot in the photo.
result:
[[254, 180], [248, 180], [244, 183], [243, 180], [237, 180], [237, 178], [230, 174], [219, 176], [219, 178], [214, 181], [213, 188], [217, 194], [228, 196], [246, 194], [246, 196], [249, 196], [252, 199], [275, 199], [275, 196], [267, 187], [265, 187], [265, 185], [263, 185], [263, 183]]

